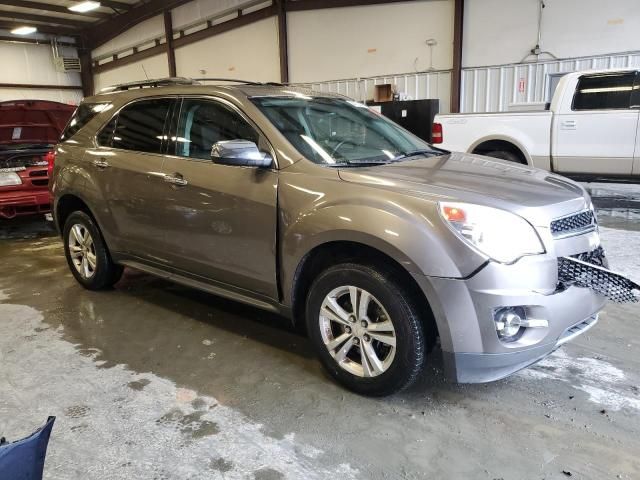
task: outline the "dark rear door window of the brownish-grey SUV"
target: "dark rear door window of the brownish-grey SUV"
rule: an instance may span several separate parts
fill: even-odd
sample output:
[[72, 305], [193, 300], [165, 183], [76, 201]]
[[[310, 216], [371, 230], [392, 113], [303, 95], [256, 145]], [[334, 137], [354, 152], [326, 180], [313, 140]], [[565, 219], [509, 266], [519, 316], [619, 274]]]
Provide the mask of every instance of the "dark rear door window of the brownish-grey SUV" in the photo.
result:
[[112, 146], [137, 152], [160, 153], [171, 100], [142, 100], [118, 114]]

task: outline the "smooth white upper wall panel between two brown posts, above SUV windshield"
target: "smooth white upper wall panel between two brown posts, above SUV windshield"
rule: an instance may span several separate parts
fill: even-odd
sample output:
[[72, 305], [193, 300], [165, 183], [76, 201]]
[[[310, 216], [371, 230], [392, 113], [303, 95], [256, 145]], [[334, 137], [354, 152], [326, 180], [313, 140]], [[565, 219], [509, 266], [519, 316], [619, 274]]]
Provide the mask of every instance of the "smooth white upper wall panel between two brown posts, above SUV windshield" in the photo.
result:
[[453, 0], [291, 12], [287, 17], [293, 82], [423, 71], [426, 40], [433, 66], [452, 66]]

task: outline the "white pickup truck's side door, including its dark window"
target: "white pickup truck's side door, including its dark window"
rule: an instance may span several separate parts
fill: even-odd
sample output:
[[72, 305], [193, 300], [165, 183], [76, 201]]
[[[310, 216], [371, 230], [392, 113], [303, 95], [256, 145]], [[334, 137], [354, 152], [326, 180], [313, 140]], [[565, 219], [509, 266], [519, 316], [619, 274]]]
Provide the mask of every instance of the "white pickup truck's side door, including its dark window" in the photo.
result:
[[561, 173], [630, 175], [638, 109], [631, 108], [635, 72], [583, 75], [571, 109], [554, 116], [553, 157]]

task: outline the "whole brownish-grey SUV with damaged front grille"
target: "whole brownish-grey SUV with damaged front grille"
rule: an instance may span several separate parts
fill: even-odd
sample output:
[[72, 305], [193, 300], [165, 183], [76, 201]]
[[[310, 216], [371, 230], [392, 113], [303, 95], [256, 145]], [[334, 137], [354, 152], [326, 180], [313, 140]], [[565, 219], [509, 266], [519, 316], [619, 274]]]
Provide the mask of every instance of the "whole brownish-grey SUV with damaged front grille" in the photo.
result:
[[450, 378], [502, 378], [593, 326], [611, 293], [571, 277], [607, 272], [578, 184], [434, 148], [338, 95], [112, 88], [78, 107], [51, 191], [84, 287], [128, 266], [304, 322], [366, 395], [411, 384], [438, 339]]

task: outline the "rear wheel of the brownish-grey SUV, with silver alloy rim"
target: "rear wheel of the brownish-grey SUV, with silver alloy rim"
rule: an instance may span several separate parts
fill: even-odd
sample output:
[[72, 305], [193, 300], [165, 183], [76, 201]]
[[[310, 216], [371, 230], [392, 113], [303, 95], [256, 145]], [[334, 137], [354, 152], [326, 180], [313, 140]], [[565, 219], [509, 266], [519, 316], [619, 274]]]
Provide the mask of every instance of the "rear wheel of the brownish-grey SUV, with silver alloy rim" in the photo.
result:
[[69, 215], [63, 240], [71, 273], [83, 287], [102, 290], [120, 280], [123, 268], [113, 263], [100, 230], [85, 212]]

